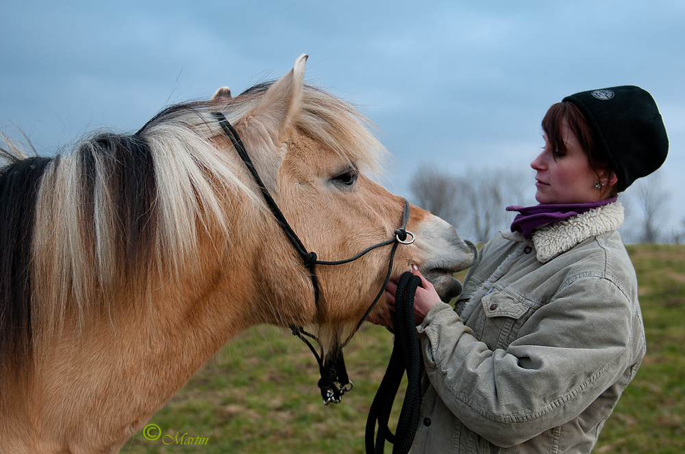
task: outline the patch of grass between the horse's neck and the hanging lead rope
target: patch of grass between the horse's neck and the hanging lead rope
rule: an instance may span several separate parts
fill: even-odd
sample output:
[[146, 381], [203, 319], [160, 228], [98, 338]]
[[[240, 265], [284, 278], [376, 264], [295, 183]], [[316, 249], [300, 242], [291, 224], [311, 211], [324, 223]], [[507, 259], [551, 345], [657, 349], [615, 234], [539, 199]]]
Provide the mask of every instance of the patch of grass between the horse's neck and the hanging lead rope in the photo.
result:
[[325, 407], [309, 349], [286, 330], [252, 328], [217, 353], [150, 421], [163, 435], [178, 432], [180, 438], [187, 432], [186, 438], [209, 438], [207, 444], [164, 445], [162, 438], [146, 440], [141, 431], [121, 451], [363, 453], [366, 414], [391, 350], [392, 335], [366, 323], [345, 354], [354, 388], [343, 403]]

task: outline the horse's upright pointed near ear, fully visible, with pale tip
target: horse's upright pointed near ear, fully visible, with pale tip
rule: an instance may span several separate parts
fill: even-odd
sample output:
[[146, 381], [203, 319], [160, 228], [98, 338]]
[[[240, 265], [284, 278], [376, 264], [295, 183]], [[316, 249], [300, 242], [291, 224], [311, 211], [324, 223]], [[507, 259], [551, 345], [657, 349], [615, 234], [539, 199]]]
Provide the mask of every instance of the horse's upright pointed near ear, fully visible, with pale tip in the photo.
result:
[[271, 85], [257, 105], [245, 114], [245, 118], [253, 117], [264, 124], [273, 139], [282, 139], [299, 115], [308, 57], [306, 53], [297, 57], [290, 72]]

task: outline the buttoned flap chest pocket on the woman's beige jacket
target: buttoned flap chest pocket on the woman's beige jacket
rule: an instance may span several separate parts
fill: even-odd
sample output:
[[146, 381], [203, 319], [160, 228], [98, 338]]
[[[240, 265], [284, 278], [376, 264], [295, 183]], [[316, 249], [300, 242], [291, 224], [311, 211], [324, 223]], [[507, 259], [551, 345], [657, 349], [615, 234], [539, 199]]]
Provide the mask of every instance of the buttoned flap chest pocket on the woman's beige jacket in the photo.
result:
[[490, 291], [482, 299], [484, 321], [481, 341], [490, 349], [506, 349], [533, 310], [524, 299], [506, 291]]

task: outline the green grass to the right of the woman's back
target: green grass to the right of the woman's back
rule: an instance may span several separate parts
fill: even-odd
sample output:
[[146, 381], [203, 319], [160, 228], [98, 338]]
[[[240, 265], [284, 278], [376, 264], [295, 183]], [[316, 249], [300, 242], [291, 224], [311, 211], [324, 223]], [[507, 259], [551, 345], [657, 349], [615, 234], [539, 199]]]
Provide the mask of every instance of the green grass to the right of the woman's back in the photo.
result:
[[685, 452], [685, 246], [627, 248], [638, 275], [647, 356], [596, 453]]

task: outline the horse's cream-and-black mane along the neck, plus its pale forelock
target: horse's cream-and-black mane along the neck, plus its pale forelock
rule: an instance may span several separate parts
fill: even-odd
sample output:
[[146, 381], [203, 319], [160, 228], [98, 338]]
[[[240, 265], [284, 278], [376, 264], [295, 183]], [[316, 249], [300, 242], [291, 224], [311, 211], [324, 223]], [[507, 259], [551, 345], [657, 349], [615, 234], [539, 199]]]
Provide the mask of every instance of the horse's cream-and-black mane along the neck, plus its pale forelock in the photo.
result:
[[[27, 157], [3, 137], [0, 377], [30, 362], [36, 336], [60, 332], [68, 314], [83, 327], [106, 310], [121, 282], [149, 293], [192, 273], [203, 230], [229, 241], [235, 194], [266, 210], [238, 178], [245, 170], [229, 158], [234, 151], [217, 148], [212, 111], [223, 111], [258, 151], [273, 152], [244, 121], [272, 83], [166, 107], [132, 135], [97, 131], [55, 157]], [[293, 126], [363, 171], [377, 172], [384, 159], [366, 119], [319, 88], [304, 86]]]

